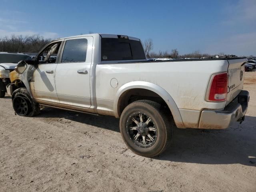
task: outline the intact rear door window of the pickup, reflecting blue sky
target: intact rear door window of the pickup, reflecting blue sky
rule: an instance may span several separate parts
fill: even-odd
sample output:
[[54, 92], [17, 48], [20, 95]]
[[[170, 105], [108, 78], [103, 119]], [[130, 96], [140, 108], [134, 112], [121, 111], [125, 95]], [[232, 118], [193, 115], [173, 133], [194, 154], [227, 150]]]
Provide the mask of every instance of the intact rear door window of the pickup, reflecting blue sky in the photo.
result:
[[87, 39], [67, 40], [62, 54], [62, 63], [85, 62]]

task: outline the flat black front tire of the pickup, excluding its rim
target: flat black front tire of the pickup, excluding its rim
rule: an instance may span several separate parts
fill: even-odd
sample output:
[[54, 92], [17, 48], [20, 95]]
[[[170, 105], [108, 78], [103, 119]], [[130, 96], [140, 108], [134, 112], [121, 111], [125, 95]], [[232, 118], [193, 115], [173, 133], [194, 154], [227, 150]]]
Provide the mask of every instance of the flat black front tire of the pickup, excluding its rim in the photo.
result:
[[[18, 99], [23, 99], [24, 102], [26, 102], [28, 110], [24, 114], [21, 114], [17, 110], [17, 106], [15, 102]], [[15, 113], [20, 116], [32, 117], [40, 113], [39, 104], [30, 97], [30, 94], [28, 93], [28, 90], [26, 88], [18, 88], [12, 93], [12, 106]]]

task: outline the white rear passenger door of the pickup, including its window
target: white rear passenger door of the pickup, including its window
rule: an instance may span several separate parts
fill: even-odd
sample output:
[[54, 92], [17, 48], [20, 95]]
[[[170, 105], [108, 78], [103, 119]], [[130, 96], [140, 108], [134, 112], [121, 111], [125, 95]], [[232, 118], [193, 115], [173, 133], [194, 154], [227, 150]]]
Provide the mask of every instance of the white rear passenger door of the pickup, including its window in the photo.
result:
[[90, 108], [92, 44], [92, 36], [68, 38], [64, 41], [55, 75], [60, 104]]

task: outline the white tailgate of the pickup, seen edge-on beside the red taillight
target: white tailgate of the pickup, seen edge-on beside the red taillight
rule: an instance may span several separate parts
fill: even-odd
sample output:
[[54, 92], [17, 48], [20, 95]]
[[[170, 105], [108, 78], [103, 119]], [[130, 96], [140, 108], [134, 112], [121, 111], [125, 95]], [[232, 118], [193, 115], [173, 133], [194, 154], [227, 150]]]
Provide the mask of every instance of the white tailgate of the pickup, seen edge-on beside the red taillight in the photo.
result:
[[247, 59], [230, 59], [228, 60], [228, 105], [243, 89], [244, 86], [244, 62]]

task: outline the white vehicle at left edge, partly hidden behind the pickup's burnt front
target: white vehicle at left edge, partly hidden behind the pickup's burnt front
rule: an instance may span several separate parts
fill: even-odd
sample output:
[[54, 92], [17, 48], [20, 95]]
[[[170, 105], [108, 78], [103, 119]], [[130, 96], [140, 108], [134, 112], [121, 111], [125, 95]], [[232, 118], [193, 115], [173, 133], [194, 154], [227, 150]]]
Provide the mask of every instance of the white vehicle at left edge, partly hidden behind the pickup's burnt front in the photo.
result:
[[16, 52], [0, 52], [0, 97], [4, 97], [6, 86], [10, 83], [9, 73], [21, 60], [32, 60], [30, 56]]

